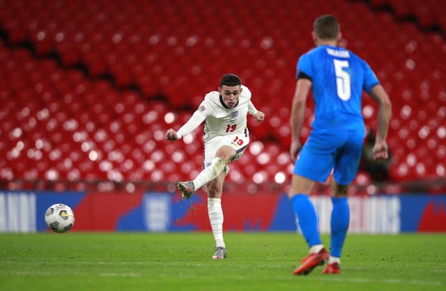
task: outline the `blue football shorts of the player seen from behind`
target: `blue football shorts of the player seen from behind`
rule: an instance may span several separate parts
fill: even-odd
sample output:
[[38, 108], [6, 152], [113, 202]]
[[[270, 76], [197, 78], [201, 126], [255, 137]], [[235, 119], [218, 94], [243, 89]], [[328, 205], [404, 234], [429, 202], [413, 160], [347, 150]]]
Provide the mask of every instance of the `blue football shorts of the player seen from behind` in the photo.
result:
[[300, 150], [293, 174], [325, 182], [333, 170], [338, 184], [350, 184], [360, 164], [364, 129], [312, 132]]

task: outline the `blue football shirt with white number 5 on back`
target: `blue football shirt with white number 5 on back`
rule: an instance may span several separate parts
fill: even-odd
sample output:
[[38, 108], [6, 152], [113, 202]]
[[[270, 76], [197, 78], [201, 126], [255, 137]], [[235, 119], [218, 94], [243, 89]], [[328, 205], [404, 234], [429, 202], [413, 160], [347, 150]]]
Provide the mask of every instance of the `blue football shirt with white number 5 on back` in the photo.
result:
[[301, 77], [313, 82], [314, 130], [364, 128], [362, 91], [379, 84], [367, 62], [348, 49], [322, 45], [300, 56]]

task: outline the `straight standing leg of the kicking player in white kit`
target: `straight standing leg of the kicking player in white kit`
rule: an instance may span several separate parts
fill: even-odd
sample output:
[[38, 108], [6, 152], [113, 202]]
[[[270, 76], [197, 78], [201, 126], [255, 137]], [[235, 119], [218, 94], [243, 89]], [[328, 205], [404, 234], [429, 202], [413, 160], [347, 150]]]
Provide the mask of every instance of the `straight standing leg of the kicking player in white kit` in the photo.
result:
[[206, 184], [208, 189], [208, 215], [210, 227], [215, 239], [215, 253], [213, 259], [226, 258], [227, 251], [223, 239], [222, 191], [226, 172], [222, 171], [214, 180]]

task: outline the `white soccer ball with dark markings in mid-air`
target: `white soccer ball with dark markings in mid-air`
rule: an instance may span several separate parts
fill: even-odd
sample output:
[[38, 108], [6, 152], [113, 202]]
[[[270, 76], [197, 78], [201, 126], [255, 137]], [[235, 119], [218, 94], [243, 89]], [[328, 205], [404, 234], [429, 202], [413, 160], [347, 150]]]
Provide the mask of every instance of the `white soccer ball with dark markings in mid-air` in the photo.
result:
[[54, 204], [45, 212], [45, 222], [52, 231], [65, 233], [75, 224], [75, 214], [68, 205]]

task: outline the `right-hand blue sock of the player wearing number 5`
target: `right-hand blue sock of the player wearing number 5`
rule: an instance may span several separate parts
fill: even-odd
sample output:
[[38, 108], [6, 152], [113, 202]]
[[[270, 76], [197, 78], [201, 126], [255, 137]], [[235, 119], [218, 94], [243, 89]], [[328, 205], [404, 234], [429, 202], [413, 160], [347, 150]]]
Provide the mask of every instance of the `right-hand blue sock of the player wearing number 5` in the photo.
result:
[[350, 210], [348, 209], [347, 197], [332, 197], [333, 210], [331, 218], [330, 255], [341, 258], [342, 246], [350, 222]]

